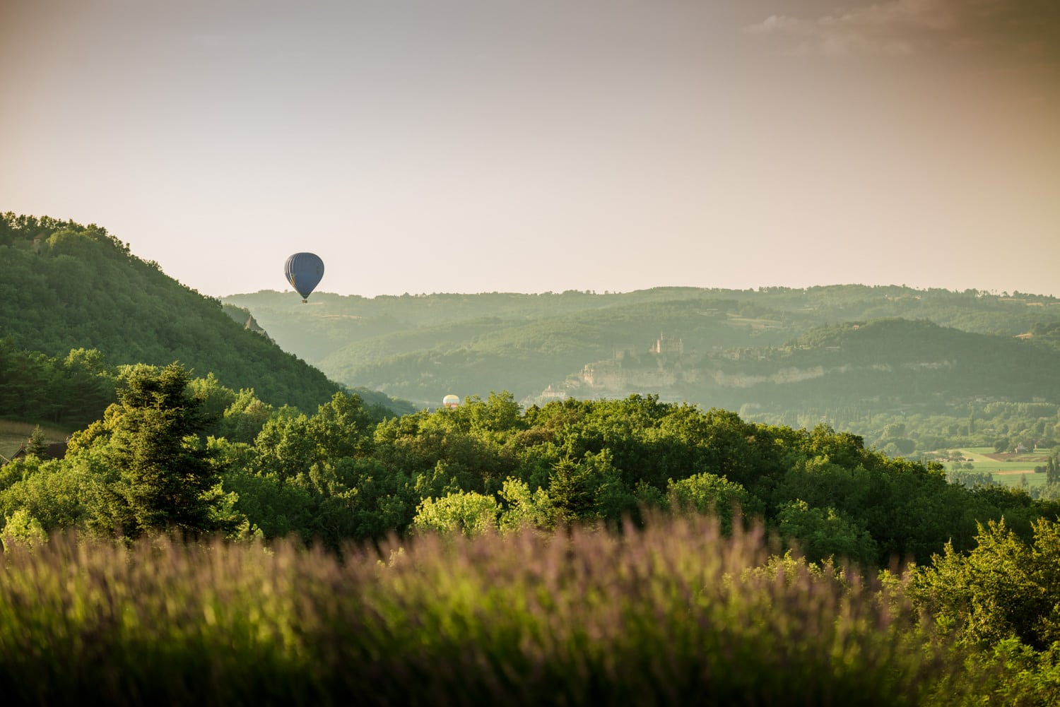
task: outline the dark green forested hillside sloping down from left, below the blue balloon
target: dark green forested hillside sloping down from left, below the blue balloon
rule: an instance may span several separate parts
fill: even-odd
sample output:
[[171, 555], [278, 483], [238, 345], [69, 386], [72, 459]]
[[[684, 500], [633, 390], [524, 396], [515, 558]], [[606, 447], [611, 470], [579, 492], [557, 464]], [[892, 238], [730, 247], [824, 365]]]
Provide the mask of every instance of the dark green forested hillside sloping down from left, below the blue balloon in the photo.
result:
[[308, 411], [339, 389], [103, 228], [4, 213], [0, 262], [0, 339], [8, 348], [57, 357], [94, 349], [110, 366], [178, 360], [196, 375]]

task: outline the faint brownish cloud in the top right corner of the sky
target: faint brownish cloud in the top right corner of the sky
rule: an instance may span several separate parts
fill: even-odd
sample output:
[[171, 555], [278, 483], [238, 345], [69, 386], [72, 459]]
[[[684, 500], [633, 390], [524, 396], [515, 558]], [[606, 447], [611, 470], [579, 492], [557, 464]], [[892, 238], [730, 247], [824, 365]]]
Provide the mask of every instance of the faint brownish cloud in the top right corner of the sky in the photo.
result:
[[817, 18], [773, 15], [747, 28], [797, 54], [1005, 53], [1060, 67], [1057, 0], [888, 0]]

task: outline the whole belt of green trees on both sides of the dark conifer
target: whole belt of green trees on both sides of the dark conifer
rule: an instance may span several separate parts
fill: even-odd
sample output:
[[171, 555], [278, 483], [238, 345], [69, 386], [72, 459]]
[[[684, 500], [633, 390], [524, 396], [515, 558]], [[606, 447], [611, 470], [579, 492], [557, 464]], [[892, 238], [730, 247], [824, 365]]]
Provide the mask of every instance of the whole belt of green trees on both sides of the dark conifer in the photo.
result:
[[[152, 369], [121, 370], [128, 377]], [[210, 503], [209, 525], [224, 520], [226, 528], [245, 529], [233, 530], [236, 535], [295, 534], [338, 548], [348, 540], [404, 533], [424, 499], [460, 493], [493, 498], [502, 509], [501, 528], [638, 525], [646, 508], [700, 513], [713, 503], [727, 531], [737, 500], [746, 519], [762, 517], [771, 530], [782, 524], [781, 534], [815, 560], [834, 554], [837, 563], [883, 567], [922, 561], [948, 540], [956, 551], [970, 549], [976, 520], [1002, 515], [1029, 538], [1034, 519], [1060, 511], [1060, 503], [1025, 493], [948, 483], [940, 465], [887, 458], [827, 425], [807, 430], [755, 424], [729, 411], [661, 403], [654, 395], [568, 399], [517, 414], [510, 395], [501, 393], [456, 410], [377, 423], [353, 394], [333, 395], [312, 416], [272, 409], [252, 391], [235, 393], [210, 376], [189, 379], [187, 394], [202, 401], [190, 417], [207, 426], [181, 449], [201, 452], [214, 458], [213, 469], [230, 470], [219, 477], [220, 488], [216, 478], [208, 487], [216, 501]], [[123, 405], [129, 403], [129, 393], [123, 395]], [[123, 405], [74, 435], [68, 459], [55, 473], [33, 480], [0, 474], [5, 512], [32, 503], [46, 530], [78, 524], [107, 532], [119, 523], [135, 527], [137, 520], [122, 509], [147, 500], [137, 499], [120, 469], [140, 448], [130, 442], [136, 430], [156, 437], [147, 430], [164, 416], [138, 404], [125, 426], [114, 427]], [[208, 407], [212, 424], [201, 414]], [[217, 436], [228, 430], [232, 438]], [[114, 452], [119, 443], [122, 454]], [[119, 489], [124, 493], [116, 499]], [[235, 496], [225, 497], [228, 493]], [[806, 508], [793, 506], [796, 500]], [[159, 519], [145, 516], [147, 523]]]

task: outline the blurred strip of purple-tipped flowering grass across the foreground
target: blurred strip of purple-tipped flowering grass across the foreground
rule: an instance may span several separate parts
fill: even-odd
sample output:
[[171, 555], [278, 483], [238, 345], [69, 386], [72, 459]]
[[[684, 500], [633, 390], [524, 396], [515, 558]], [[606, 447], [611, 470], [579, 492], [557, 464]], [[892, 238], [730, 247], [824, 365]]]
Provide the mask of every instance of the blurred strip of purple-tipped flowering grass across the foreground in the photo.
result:
[[622, 534], [425, 535], [382, 555], [55, 536], [3, 558], [0, 694], [917, 705], [975, 689], [952, 650], [876, 588], [766, 561], [760, 532], [723, 537], [704, 518]]

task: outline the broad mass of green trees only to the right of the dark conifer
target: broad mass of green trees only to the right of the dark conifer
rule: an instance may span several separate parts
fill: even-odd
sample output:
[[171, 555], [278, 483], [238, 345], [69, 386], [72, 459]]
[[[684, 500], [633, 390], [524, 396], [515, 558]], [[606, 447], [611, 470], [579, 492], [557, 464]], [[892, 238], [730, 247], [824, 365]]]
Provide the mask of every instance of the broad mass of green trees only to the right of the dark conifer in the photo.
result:
[[[490, 414], [510, 408], [498, 395], [456, 410], [393, 418], [374, 429], [353, 401], [336, 396], [314, 417], [278, 410], [238, 462], [261, 477], [254, 488], [272, 489], [277, 499], [297, 496], [301, 510], [287, 501], [252, 503], [258, 492], [249, 482], [233, 478], [238, 489], [226, 482], [241, 495], [236, 508], [267, 537], [297, 532], [332, 544], [350, 537], [344, 533], [353, 528], [360, 530], [352, 537], [382, 537], [406, 531], [424, 499], [464, 492], [494, 496], [504, 509], [501, 527], [639, 523], [641, 508], [665, 507], [676, 491], [676, 506], [690, 503], [697, 512], [716, 502], [726, 529], [728, 508], [738, 500], [745, 517], [764, 516], [774, 529], [787, 513], [788, 536], [803, 549], [819, 536], [811, 550], [819, 551], [818, 560], [834, 553], [836, 562], [887, 566], [939, 552], [948, 538], [958, 550], [971, 547], [976, 519], [1005, 514], [1029, 536], [1030, 520], [1046, 511], [1026, 494], [949, 484], [941, 467], [888, 459], [825, 425], [757, 425], [655, 396], [570, 399], [531, 407], [512, 421]], [[369, 469], [371, 460], [372, 471], [314, 481], [347, 469], [343, 459], [358, 460], [358, 469]], [[795, 499], [808, 508], [793, 509]], [[271, 508], [287, 509], [280, 513], [283, 523], [266, 517]], [[322, 514], [330, 518], [326, 529], [316, 520]]]

